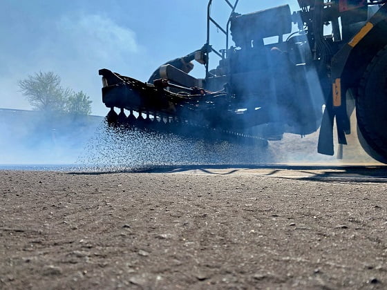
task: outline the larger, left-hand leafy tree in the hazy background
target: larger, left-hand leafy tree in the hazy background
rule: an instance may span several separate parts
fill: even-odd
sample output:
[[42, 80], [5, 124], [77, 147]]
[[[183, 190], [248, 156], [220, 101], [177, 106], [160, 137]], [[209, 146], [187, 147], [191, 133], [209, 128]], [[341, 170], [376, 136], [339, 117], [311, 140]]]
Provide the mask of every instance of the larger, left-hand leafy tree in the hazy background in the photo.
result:
[[54, 72], [36, 72], [18, 82], [19, 88], [35, 110], [64, 111], [68, 97], [73, 93], [62, 88], [61, 78]]

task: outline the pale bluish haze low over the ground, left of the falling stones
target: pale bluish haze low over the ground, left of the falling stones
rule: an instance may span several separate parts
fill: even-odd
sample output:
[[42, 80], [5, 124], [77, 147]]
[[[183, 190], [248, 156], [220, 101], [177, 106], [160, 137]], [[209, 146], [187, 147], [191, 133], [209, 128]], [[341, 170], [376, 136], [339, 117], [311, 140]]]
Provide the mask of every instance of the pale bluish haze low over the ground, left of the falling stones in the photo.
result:
[[101, 117], [0, 110], [0, 164], [74, 164]]

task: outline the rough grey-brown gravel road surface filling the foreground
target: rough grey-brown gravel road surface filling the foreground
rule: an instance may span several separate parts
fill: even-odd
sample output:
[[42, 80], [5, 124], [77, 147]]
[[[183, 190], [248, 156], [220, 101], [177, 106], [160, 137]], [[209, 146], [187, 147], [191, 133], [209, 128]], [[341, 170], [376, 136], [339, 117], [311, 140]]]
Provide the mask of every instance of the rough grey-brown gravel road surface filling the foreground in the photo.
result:
[[386, 289], [384, 170], [265, 170], [0, 171], [0, 289]]

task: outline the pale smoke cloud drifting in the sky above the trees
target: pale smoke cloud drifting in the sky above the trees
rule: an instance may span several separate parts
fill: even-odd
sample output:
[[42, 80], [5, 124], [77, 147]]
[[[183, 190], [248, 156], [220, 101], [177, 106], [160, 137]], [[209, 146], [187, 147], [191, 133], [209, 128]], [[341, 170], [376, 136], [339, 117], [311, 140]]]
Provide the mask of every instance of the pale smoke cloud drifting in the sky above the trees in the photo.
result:
[[[37, 45], [25, 47], [21, 55], [3, 51], [0, 108], [30, 109], [17, 81], [35, 72], [53, 71], [64, 87], [82, 90], [91, 97], [93, 114], [104, 115], [98, 70], [107, 67], [122, 71], [134, 66], [133, 61], [141, 55], [135, 32], [94, 14], [65, 14], [50, 23], [49, 30], [37, 35]], [[15, 39], [15, 46], [24, 41]]]

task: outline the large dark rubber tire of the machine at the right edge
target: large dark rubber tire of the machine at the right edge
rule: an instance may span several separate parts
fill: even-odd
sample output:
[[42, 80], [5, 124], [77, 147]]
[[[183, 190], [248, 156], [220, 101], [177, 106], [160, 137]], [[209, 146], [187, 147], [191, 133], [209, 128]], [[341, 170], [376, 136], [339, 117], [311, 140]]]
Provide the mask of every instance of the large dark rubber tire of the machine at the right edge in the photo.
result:
[[364, 151], [387, 163], [387, 46], [370, 61], [361, 78], [356, 117]]

